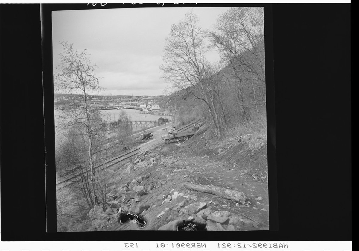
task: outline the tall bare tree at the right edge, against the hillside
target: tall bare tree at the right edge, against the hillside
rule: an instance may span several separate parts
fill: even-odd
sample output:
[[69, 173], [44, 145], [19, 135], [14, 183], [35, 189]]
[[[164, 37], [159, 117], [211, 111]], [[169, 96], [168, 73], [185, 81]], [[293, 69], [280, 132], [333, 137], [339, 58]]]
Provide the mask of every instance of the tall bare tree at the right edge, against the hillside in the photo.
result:
[[217, 20], [211, 37], [223, 63], [233, 70], [233, 79], [236, 79], [233, 93], [236, 93], [243, 120], [248, 121], [248, 108], [256, 108], [258, 112], [259, 105], [265, 106], [263, 8], [230, 8]]

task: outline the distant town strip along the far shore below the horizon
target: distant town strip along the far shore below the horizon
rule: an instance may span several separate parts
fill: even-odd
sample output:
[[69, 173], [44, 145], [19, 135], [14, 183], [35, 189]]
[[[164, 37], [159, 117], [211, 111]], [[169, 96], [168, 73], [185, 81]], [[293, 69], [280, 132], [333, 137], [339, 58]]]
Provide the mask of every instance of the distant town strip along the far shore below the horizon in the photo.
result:
[[[165, 97], [159, 96], [128, 96], [128, 95], [89, 95], [88, 103], [99, 110], [106, 109], [140, 109], [143, 111], [163, 110], [158, 101]], [[66, 105], [83, 102], [83, 97], [76, 94], [54, 94], [55, 109], [65, 109]]]

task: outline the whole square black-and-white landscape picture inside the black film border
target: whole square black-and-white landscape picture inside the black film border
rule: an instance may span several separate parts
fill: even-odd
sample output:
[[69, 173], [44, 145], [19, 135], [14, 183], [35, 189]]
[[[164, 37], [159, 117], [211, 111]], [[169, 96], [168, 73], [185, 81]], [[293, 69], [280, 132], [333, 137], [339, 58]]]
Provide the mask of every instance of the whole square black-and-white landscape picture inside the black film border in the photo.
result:
[[57, 232], [270, 229], [264, 21], [52, 12]]

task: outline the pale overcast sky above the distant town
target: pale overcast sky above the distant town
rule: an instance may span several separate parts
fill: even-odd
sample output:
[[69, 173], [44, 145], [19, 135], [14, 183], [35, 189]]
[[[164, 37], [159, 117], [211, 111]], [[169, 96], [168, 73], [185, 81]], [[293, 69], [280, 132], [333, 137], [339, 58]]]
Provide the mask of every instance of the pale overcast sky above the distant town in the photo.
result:
[[[194, 8], [202, 29], [211, 29], [228, 8]], [[165, 37], [190, 8], [130, 8], [52, 12], [53, 66], [59, 65], [60, 41], [73, 44], [96, 64], [101, 95], [163, 95], [170, 87], [159, 66]], [[219, 61], [216, 51], [206, 58]]]

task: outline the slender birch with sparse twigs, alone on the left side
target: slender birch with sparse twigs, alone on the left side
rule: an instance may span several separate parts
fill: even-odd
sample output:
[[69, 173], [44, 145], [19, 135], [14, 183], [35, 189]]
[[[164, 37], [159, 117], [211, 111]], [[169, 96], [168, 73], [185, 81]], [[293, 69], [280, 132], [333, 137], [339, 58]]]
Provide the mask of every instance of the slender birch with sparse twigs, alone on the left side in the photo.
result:
[[86, 139], [88, 169], [91, 173], [91, 189], [94, 201], [99, 205], [97, 185], [95, 182], [94, 147], [99, 144], [106, 134], [106, 123], [101, 120], [99, 111], [95, 110], [89, 101], [89, 95], [102, 90], [95, 76], [95, 64], [88, 58], [85, 49], [78, 52], [73, 44], [62, 41], [62, 53], [59, 54], [60, 65], [54, 76], [55, 90], [61, 93], [76, 94], [77, 100], [71, 102], [60, 116], [60, 128], [76, 129], [77, 136]]

